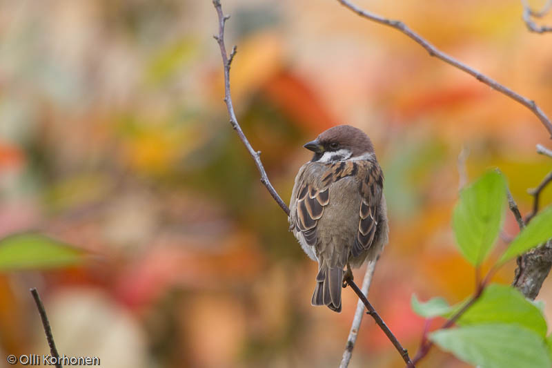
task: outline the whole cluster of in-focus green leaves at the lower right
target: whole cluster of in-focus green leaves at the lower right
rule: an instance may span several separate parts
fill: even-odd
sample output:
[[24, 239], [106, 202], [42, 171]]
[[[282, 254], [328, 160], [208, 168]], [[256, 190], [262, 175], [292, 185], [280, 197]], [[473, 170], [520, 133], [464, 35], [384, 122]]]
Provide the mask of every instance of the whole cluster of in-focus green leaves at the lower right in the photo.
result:
[[[480, 177], [460, 193], [453, 213], [457, 245], [473, 266], [486, 260], [502, 226], [506, 182], [496, 171]], [[509, 244], [495, 267], [552, 238], [552, 207], [531, 220]], [[469, 302], [450, 306], [443, 298], [420, 302], [412, 296], [412, 309], [425, 318], [451, 318]], [[428, 338], [457, 358], [484, 368], [549, 368], [552, 336], [546, 337], [542, 305], [527, 300], [513, 287], [489, 284], [456, 321], [456, 327], [440, 329]]]

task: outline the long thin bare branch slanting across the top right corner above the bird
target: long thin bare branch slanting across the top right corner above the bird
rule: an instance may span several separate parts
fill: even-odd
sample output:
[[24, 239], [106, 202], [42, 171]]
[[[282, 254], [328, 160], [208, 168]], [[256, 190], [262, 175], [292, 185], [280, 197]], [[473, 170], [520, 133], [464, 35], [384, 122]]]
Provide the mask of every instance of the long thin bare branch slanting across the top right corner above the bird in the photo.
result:
[[341, 3], [343, 6], [346, 6], [346, 8], [353, 10], [353, 12], [359, 14], [359, 16], [361, 17], [364, 17], [371, 21], [375, 21], [376, 23], [383, 24], [384, 26], [389, 26], [391, 28], [395, 28], [396, 30], [399, 30], [400, 32], [404, 33], [404, 35], [410, 37], [416, 43], [420, 44], [420, 46], [425, 48], [430, 56], [437, 57], [437, 59], [441, 59], [445, 63], [450, 64], [451, 66], [454, 66], [455, 68], [458, 68], [460, 70], [463, 70], [469, 75], [472, 75], [473, 77], [475, 77], [475, 79], [477, 79], [478, 81], [481, 81], [482, 83], [497, 90], [503, 95], [506, 95], [511, 99], [519, 102], [526, 108], [529, 108], [529, 110], [531, 110], [533, 114], [535, 114], [540, 119], [540, 122], [542, 122], [542, 125], [544, 125], [546, 130], [548, 130], [552, 138], [552, 123], [550, 122], [550, 119], [542, 112], [540, 107], [537, 104], [535, 104], [535, 101], [528, 99], [526, 97], [523, 97], [518, 93], [515, 93], [510, 88], [503, 86], [502, 84], [498, 83], [494, 79], [487, 77], [481, 72], [471, 68], [470, 66], [467, 66], [466, 64], [460, 61], [457, 61], [450, 55], [447, 55], [446, 53], [438, 50], [437, 48], [435, 48], [435, 46], [433, 46], [431, 43], [426, 41], [426, 39], [424, 39], [422, 36], [418, 35], [416, 32], [408, 28], [408, 26], [406, 26], [406, 24], [404, 24], [402, 21], [387, 19], [387, 18], [381, 17], [380, 15], [374, 14], [372, 12], [367, 12], [366, 10], [359, 8], [358, 6], [356, 6], [355, 4], [351, 3], [348, 0], [337, 0], [337, 1], [339, 1], [339, 3]]

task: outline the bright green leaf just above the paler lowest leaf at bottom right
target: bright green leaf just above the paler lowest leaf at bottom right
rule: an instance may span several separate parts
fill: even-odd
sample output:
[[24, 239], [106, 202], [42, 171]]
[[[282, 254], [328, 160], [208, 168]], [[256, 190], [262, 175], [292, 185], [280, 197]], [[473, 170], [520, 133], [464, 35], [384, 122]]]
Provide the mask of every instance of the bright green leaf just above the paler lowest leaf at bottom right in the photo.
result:
[[520, 291], [507, 285], [491, 284], [482, 296], [460, 317], [458, 325], [476, 325], [482, 322], [503, 322], [520, 325], [546, 336], [546, 320], [542, 312]]

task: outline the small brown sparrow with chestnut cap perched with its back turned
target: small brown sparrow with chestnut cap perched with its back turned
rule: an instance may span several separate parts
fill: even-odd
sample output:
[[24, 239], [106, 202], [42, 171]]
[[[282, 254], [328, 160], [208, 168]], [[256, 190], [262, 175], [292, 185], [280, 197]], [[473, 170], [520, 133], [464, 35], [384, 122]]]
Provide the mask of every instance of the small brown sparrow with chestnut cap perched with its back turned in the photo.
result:
[[370, 138], [353, 126], [334, 126], [304, 147], [314, 155], [295, 177], [288, 221], [318, 262], [311, 304], [340, 312], [351, 267], [375, 260], [388, 241], [384, 175]]

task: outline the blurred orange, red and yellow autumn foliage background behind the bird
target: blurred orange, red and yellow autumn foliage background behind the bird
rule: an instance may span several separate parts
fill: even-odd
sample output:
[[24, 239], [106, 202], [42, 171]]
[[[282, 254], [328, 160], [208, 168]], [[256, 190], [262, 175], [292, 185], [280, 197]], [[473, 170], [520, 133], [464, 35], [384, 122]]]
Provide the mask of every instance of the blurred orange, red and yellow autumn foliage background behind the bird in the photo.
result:
[[[552, 35], [527, 32], [519, 1], [357, 3], [552, 114]], [[550, 147], [546, 130], [337, 1], [223, 6], [239, 122], [286, 202], [310, 159], [304, 142], [335, 124], [373, 139], [391, 237], [370, 298], [415, 351], [424, 321], [412, 293], [457, 302], [474, 285], [450, 224], [462, 147], [469, 179], [500, 168], [526, 213], [526, 188], [552, 166], [535, 153]], [[228, 124], [216, 31], [208, 0], [0, 2], [0, 235], [32, 229], [88, 254], [78, 267], [0, 273], [0, 366], [48, 351], [29, 287], [59, 351], [102, 367], [338, 365], [356, 298], [344, 291], [340, 314], [311, 307], [316, 264]], [[508, 213], [504, 238], [516, 231]], [[538, 299], [550, 318], [550, 281]], [[402, 366], [366, 318], [351, 367]], [[435, 349], [422, 367], [466, 365]]]

